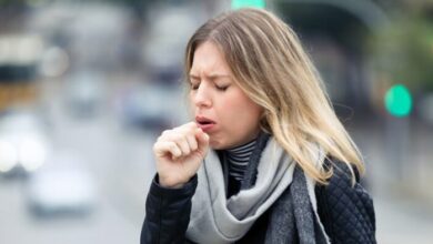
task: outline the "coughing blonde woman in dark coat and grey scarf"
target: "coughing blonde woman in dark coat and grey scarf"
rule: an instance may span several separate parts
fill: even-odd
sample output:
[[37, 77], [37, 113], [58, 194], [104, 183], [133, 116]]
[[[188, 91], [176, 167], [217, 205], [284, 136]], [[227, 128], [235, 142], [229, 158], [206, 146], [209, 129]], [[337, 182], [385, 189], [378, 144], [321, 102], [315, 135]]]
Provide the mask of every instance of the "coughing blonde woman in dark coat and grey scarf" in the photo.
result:
[[185, 73], [194, 121], [154, 143], [141, 243], [375, 243], [360, 153], [283, 21], [209, 20]]

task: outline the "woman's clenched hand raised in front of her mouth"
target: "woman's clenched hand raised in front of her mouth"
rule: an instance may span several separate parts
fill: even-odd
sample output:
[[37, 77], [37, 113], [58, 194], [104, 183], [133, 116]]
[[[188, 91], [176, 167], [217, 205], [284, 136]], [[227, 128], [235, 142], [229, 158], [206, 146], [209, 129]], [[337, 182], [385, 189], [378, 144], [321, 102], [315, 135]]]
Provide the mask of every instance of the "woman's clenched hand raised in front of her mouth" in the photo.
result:
[[167, 130], [153, 145], [159, 183], [181, 187], [199, 170], [209, 149], [209, 135], [194, 122]]

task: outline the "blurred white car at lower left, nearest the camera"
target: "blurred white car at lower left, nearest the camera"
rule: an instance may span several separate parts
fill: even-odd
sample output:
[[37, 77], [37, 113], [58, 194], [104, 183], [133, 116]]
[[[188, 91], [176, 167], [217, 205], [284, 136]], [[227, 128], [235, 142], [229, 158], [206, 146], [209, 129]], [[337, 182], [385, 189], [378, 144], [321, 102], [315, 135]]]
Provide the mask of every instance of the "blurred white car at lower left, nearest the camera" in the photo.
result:
[[73, 153], [54, 153], [29, 177], [28, 200], [38, 216], [87, 215], [95, 205], [95, 183], [84, 160]]

